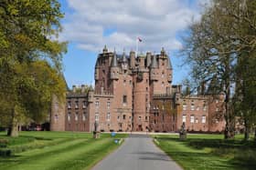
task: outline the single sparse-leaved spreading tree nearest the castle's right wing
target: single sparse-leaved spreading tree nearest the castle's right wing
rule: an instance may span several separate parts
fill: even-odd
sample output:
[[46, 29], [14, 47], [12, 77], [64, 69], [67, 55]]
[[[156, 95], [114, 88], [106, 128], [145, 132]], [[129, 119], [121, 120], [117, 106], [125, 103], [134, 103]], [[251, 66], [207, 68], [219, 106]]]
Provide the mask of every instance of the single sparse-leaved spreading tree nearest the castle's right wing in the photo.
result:
[[236, 71], [242, 54], [255, 49], [255, 28], [255, 1], [214, 0], [184, 41], [182, 53], [192, 66], [192, 78], [205, 82], [208, 91], [225, 94], [225, 138], [235, 135]]

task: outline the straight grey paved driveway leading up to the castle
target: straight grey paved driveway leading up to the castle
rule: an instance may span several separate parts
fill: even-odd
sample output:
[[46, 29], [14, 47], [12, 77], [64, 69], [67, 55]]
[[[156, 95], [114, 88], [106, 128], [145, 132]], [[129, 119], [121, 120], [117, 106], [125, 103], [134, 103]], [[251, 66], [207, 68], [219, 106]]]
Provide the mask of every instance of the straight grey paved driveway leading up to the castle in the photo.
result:
[[130, 135], [124, 144], [93, 170], [181, 170], [148, 135]]

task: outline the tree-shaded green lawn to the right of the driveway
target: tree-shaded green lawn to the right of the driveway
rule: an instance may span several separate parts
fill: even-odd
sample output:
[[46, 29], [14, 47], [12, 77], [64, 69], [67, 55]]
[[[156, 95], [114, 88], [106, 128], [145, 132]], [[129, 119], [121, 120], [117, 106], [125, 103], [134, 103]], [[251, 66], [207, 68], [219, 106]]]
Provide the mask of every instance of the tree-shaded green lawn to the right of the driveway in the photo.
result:
[[243, 143], [242, 136], [223, 140], [223, 135], [155, 135], [156, 145], [184, 169], [256, 169], [256, 145]]

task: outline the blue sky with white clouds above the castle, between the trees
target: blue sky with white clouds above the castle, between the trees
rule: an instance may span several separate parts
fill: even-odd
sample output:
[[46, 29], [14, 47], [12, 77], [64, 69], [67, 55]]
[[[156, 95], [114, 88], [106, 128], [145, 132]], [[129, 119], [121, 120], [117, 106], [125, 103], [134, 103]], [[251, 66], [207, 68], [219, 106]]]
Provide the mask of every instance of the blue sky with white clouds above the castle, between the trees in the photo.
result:
[[160, 53], [164, 47], [173, 65], [173, 84], [189, 75], [178, 50], [187, 26], [200, 18], [207, 0], [60, 0], [63, 31], [59, 41], [68, 41], [63, 57], [64, 76], [72, 85], [93, 85], [94, 65], [104, 45], [110, 51], [127, 54]]

